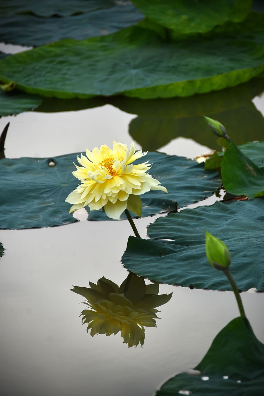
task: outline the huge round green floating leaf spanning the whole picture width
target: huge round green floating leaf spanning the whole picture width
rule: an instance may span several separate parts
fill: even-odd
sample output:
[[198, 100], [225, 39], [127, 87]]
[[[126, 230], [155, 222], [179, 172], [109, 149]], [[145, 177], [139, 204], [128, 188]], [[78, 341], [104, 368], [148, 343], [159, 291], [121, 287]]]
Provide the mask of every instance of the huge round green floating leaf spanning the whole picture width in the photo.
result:
[[4, 82], [61, 98], [120, 92], [143, 99], [188, 96], [237, 85], [263, 69], [264, 47], [249, 40], [199, 37], [187, 45], [164, 42], [140, 27], [61, 40], [0, 60]]

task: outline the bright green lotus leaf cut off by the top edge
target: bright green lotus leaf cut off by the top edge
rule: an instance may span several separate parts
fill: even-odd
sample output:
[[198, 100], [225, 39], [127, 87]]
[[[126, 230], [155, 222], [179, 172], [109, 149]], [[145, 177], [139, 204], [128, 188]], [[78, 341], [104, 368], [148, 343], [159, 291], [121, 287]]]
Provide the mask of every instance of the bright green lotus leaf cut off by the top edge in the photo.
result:
[[179, 34], [203, 33], [226, 21], [240, 22], [251, 8], [251, 0], [132, 0], [148, 18]]

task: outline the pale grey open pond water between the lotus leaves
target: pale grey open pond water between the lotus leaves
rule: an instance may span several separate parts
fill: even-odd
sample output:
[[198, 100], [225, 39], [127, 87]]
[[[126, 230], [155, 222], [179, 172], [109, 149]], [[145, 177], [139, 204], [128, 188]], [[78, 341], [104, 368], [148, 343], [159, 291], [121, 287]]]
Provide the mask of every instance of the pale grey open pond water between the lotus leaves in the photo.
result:
[[[197, 108], [203, 96], [193, 99]], [[256, 130], [254, 118], [248, 120], [253, 128], [247, 140], [238, 144], [263, 140], [263, 130], [262, 135], [258, 131], [263, 117], [253, 102], [264, 113], [264, 97], [257, 96], [253, 102], [251, 99], [245, 98], [244, 107], [243, 103], [234, 106], [234, 112], [229, 114], [230, 124], [238, 108], [246, 112], [250, 107], [256, 114]], [[115, 100], [122, 102], [122, 98]], [[241, 98], [237, 97], [237, 101]], [[139, 109], [145, 109], [146, 102], [143, 102], [142, 107], [140, 102], [136, 103]], [[160, 100], [160, 107], [164, 103], [166, 101]], [[180, 104], [178, 99], [177, 103]], [[185, 98], [181, 103], [184, 107]], [[123, 98], [123, 107], [128, 105], [128, 99]], [[90, 149], [102, 144], [111, 146], [112, 140], [127, 144], [134, 141], [136, 147], [141, 148], [139, 139], [129, 134], [133, 120], [140, 118], [139, 112], [133, 113], [133, 109], [135, 107], [125, 112], [102, 102], [100, 107], [84, 110], [45, 113], [36, 110], [3, 117], [0, 119], [2, 129], [10, 121], [5, 155], [9, 158], [52, 157], [84, 152], [87, 146]], [[194, 135], [199, 116], [194, 114], [196, 120], [191, 126], [191, 116], [187, 113], [192, 109], [186, 108], [185, 124], [181, 124], [181, 128], [189, 125], [190, 136]], [[213, 114], [224, 111], [227, 112], [215, 109]], [[151, 114], [144, 110], [144, 117], [142, 125], [147, 129], [146, 118], [151, 118]], [[227, 119], [227, 115], [225, 117]], [[219, 120], [226, 125], [224, 120]], [[211, 148], [210, 143], [203, 143], [206, 138], [200, 139], [201, 131], [197, 132], [199, 144], [188, 138], [188, 130], [182, 137], [175, 129], [175, 119], [171, 119], [170, 125], [176, 137], [172, 135], [164, 141], [160, 151], [194, 158]], [[203, 133], [210, 133], [206, 126]], [[230, 130], [228, 133], [232, 136]], [[154, 395], [168, 378], [196, 366], [220, 329], [239, 316], [234, 295], [228, 291], [160, 285], [160, 293], [173, 291], [173, 296], [160, 307], [157, 327], [146, 327], [142, 348], [122, 344], [120, 333], [91, 337], [79, 318], [85, 308], [79, 303], [84, 302], [84, 298], [70, 289], [72, 285], [89, 287], [90, 281], [97, 283], [102, 276], [120, 285], [127, 277], [120, 259], [132, 230], [128, 221], [86, 221], [84, 209], [78, 211], [76, 217], [80, 221], [61, 227], [0, 231], [0, 241], [5, 247], [0, 259], [2, 394]], [[156, 217], [135, 220], [143, 238], [147, 238], [147, 225]], [[241, 293], [241, 298], [256, 336], [264, 342], [264, 294], [251, 290]]]

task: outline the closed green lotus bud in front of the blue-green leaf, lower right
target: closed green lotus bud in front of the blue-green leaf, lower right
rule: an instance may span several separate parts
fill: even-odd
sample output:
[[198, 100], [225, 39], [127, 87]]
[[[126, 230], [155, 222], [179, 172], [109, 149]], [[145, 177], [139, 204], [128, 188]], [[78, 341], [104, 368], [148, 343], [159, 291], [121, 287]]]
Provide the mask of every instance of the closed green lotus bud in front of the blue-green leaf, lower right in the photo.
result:
[[217, 270], [225, 270], [230, 266], [231, 256], [228, 248], [220, 239], [205, 231], [205, 251], [207, 260]]

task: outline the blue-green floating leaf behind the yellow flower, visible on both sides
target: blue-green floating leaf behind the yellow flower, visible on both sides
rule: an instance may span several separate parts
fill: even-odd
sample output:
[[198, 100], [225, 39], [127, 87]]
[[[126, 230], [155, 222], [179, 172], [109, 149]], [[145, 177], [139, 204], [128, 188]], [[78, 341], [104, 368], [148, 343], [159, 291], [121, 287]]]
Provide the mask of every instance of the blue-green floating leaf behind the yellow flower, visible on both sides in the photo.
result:
[[[72, 176], [77, 154], [54, 158], [17, 158], [0, 160], [0, 228], [51, 227], [75, 221], [68, 214], [65, 201], [78, 186]], [[142, 216], [175, 210], [175, 198], [181, 206], [210, 196], [221, 184], [215, 172], [204, 171], [201, 164], [186, 158], [148, 153], [145, 160], [154, 162], [154, 174], [169, 194], [151, 191], [142, 196]], [[49, 167], [48, 164], [55, 163]], [[51, 164], [52, 165], [52, 164]], [[186, 183], [186, 180], [188, 182]], [[89, 220], [109, 220], [100, 211], [92, 211]]]

